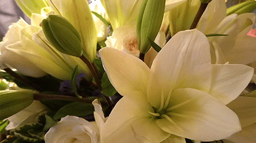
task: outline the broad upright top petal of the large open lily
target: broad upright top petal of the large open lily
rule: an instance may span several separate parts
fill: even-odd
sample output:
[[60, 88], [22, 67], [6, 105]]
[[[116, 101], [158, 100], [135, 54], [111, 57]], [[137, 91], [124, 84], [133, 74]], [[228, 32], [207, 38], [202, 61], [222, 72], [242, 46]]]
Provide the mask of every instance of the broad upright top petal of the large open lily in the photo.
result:
[[152, 64], [147, 87], [148, 102], [155, 108], [173, 88], [196, 88], [208, 92], [211, 82], [211, 62], [208, 39], [203, 33], [187, 30], [177, 33], [158, 53]]

